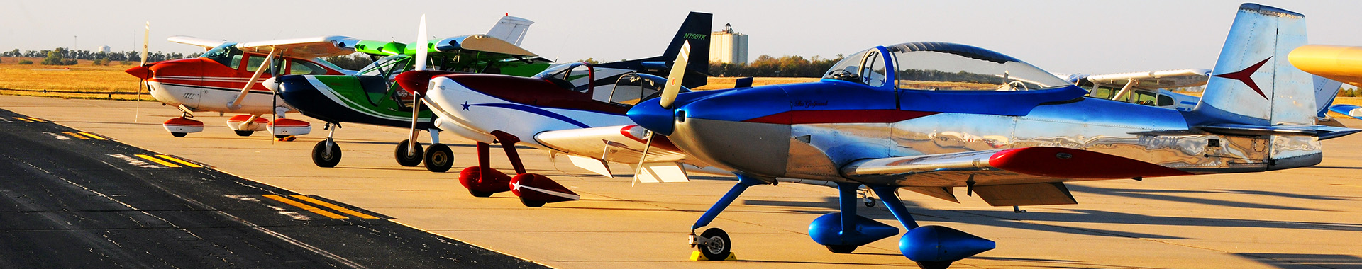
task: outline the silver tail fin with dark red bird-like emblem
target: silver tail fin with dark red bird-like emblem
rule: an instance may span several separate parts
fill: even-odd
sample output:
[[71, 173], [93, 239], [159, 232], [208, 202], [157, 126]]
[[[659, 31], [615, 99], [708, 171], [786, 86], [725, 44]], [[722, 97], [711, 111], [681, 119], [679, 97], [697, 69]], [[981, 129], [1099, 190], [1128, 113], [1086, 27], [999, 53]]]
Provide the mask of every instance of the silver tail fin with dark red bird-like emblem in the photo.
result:
[[1305, 42], [1305, 15], [1260, 4], [1239, 5], [1205, 95], [1193, 113], [1203, 121], [1224, 124], [1314, 124], [1314, 79], [1287, 61], [1287, 54]]

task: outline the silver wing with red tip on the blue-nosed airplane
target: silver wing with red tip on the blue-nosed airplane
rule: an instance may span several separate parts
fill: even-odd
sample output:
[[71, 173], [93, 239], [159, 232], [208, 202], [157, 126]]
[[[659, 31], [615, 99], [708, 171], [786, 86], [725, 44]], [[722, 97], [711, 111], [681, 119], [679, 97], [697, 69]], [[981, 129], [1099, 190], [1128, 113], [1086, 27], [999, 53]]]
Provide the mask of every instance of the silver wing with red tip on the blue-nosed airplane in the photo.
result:
[[957, 201], [952, 187], [964, 186], [989, 205], [1005, 207], [1077, 204], [1065, 181], [1189, 173], [1094, 151], [1027, 147], [857, 160], [844, 166], [842, 174], [948, 201]]

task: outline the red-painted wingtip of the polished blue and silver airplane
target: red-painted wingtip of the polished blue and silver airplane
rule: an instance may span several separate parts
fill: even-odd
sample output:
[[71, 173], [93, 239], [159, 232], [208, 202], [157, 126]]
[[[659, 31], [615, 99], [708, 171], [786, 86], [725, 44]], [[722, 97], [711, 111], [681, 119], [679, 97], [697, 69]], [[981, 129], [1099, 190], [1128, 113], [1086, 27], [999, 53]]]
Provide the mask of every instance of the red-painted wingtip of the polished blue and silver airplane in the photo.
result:
[[989, 166], [1054, 178], [1136, 178], [1190, 175], [1182, 170], [1130, 158], [1076, 148], [1030, 147], [1005, 149], [989, 158]]

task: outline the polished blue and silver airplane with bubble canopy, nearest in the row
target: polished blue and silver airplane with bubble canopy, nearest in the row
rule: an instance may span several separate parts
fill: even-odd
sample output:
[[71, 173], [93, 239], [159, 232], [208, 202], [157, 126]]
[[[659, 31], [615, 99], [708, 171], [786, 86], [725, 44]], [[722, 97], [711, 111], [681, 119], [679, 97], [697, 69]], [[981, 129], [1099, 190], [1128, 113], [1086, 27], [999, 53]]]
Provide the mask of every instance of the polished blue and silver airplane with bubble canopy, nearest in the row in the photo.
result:
[[[1189, 111], [1084, 96], [1064, 79], [982, 48], [910, 42], [850, 54], [813, 83], [685, 94], [666, 87], [628, 115], [737, 174], [740, 182], [692, 226], [692, 246], [710, 259], [727, 258], [733, 240], [719, 228], [696, 230], [748, 187], [795, 178], [840, 190], [840, 212], [809, 224], [819, 245], [850, 253], [899, 235], [895, 226], [857, 216], [857, 190], [866, 186], [907, 230], [903, 255], [947, 268], [994, 242], [918, 226], [898, 189], [956, 201], [953, 187], [966, 187], [990, 205], [1056, 205], [1077, 202], [1064, 185], [1071, 181], [1318, 164], [1320, 140], [1362, 129], [1314, 122], [1313, 77], [1286, 60], [1305, 42], [1303, 15], [1242, 4]], [[647, 137], [652, 144], [655, 136]]]

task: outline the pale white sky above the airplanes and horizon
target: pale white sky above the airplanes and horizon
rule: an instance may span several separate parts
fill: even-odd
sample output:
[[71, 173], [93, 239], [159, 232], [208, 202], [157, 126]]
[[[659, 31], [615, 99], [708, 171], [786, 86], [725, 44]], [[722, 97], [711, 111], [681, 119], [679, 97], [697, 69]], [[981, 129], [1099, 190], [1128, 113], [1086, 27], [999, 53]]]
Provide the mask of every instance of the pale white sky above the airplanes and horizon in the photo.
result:
[[[421, 14], [436, 37], [486, 33], [504, 14], [534, 20], [523, 48], [563, 61], [662, 53], [688, 11], [750, 35], [749, 56], [823, 56], [874, 45], [941, 41], [982, 46], [1050, 72], [1212, 68], [1241, 1], [26, 1], [0, 0], [0, 50], [72, 46], [133, 50], [151, 22], [151, 50], [191, 35], [266, 41], [316, 35], [415, 39]], [[1362, 46], [1362, 1], [1264, 0], [1305, 14], [1310, 43]], [[139, 31], [133, 37], [133, 31]], [[78, 38], [74, 38], [78, 37]]]

